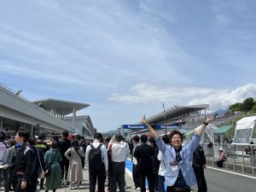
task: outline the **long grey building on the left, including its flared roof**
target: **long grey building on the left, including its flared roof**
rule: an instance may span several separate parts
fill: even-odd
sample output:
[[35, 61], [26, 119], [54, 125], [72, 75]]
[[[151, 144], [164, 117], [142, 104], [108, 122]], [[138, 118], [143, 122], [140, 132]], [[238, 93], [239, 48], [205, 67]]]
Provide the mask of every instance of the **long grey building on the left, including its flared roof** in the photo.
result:
[[[61, 131], [83, 135], [83, 129], [75, 126], [75, 114], [81, 108], [88, 107], [89, 104], [54, 99], [31, 102], [20, 96], [20, 92], [0, 84], [0, 131], [14, 136], [22, 126], [31, 131], [33, 135], [42, 131], [46, 135], [60, 134]], [[69, 113], [73, 113], [72, 124], [63, 120]], [[89, 124], [89, 126], [84, 126], [90, 129], [88, 133], [94, 131], [91, 121]]]

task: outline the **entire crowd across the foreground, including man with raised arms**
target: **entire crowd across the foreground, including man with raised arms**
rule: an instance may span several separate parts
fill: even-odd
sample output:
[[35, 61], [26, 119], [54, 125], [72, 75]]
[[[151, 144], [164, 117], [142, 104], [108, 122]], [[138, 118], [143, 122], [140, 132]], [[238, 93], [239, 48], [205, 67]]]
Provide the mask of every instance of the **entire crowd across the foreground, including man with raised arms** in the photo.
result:
[[106, 181], [109, 192], [116, 192], [117, 188], [125, 192], [125, 160], [131, 155], [134, 181], [131, 189], [146, 192], [147, 178], [149, 192], [190, 192], [196, 180], [198, 191], [206, 192], [203, 176], [206, 162], [198, 146], [201, 134], [211, 121], [207, 118], [196, 128], [194, 137], [185, 145], [179, 131], [160, 137], [145, 118], [142, 123], [147, 125], [153, 137], [134, 136], [131, 143], [125, 142], [121, 135], [104, 140], [99, 132], [88, 141], [79, 135], [70, 138], [69, 133], [63, 131], [61, 137], [52, 137], [49, 143], [45, 142], [44, 133], [34, 137], [20, 129], [12, 139], [0, 132], [1, 182], [6, 192], [33, 192], [38, 189], [37, 185], [45, 192], [55, 192], [63, 185], [79, 189], [84, 162], [88, 162], [90, 192], [104, 192]]

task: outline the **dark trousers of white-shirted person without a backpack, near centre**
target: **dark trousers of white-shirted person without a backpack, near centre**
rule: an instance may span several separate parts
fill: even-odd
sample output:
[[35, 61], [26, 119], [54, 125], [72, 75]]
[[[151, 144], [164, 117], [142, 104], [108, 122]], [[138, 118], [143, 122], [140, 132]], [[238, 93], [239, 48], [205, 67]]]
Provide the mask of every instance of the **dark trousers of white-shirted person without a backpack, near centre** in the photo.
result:
[[112, 170], [109, 172], [110, 191], [116, 192], [116, 183], [119, 185], [119, 192], [125, 192], [125, 161], [111, 162]]

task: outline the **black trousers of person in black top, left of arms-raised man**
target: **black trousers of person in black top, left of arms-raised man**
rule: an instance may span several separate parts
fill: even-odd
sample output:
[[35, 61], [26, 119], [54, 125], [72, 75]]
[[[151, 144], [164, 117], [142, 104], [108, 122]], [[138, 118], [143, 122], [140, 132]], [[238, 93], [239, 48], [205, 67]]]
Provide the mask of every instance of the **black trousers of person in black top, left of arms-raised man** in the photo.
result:
[[145, 180], [148, 179], [148, 190], [149, 192], [154, 192], [154, 177], [152, 167], [139, 167], [138, 169], [140, 183], [141, 183], [141, 192], [146, 192]]

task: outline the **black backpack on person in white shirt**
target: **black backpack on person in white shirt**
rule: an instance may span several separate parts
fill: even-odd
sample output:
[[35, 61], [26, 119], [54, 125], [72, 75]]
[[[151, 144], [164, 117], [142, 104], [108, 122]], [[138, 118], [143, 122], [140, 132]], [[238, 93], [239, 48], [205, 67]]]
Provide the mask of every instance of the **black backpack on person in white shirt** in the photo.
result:
[[102, 144], [95, 148], [90, 144], [89, 151], [89, 169], [90, 170], [102, 170]]

